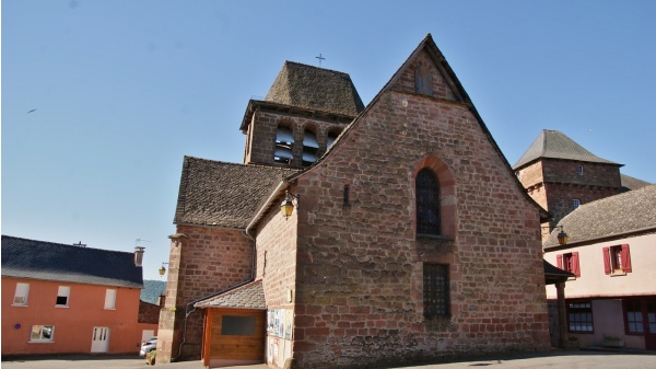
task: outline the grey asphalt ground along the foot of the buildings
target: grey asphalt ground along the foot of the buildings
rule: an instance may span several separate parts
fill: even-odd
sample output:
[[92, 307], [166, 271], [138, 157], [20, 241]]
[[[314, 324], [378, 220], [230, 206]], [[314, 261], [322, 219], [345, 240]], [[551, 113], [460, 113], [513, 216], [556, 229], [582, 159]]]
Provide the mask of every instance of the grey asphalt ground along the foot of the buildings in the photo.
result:
[[[13, 358], [2, 361], [2, 369], [140, 369], [151, 368], [142, 358], [133, 356], [54, 356]], [[656, 369], [656, 353], [618, 354], [604, 351], [549, 351], [483, 357], [462, 361], [426, 364], [403, 369], [490, 369], [567, 368], [567, 369]], [[201, 361], [157, 364], [153, 369], [202, 369]], [[391, 367], [390, 367], [391, 368]], [[266, 365], [231, 367], [227, 369], [268, 369]], [[300, 368], [307, 369], [307, 368]]]

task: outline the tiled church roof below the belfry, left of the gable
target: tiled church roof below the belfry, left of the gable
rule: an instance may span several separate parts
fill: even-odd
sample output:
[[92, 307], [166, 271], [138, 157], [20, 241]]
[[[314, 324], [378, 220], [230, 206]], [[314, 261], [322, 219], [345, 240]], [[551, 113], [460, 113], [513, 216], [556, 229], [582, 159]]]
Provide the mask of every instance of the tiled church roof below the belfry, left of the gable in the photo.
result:
[[244, 229], [272, 187], [295, 172], [185, 157], [174, 222]]

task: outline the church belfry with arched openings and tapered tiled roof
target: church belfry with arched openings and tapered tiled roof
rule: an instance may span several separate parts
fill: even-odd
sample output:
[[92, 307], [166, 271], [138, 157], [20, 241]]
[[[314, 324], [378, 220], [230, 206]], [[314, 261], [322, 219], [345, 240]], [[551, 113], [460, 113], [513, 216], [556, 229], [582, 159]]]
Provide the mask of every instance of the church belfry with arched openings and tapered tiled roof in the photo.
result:
[[248, 102], [244, 164], [307, 166], [363, 109], [349, 74], [285, 61], [265, 100]]

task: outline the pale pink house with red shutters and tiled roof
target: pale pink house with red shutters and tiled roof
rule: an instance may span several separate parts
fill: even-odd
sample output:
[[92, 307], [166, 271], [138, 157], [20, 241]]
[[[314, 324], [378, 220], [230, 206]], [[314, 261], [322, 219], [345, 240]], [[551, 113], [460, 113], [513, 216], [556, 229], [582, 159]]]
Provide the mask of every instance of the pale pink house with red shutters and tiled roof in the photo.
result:
[[[544, 243], [567, 280], [566, 330], [581, 347], [656, 350], [656, 185], [582, 205]], [[548, 288], [548, 298], [555, 291]]]

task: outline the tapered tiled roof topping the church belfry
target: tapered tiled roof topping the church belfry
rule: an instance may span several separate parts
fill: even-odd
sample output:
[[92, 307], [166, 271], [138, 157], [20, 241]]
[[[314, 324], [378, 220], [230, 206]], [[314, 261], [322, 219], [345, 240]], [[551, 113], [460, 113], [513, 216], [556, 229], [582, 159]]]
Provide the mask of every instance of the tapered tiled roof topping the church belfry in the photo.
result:
[[364, 104], [343, 72], [285, 61], [265, 101], [355, 116]]

